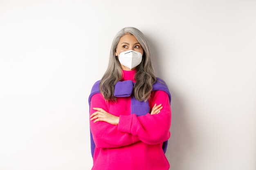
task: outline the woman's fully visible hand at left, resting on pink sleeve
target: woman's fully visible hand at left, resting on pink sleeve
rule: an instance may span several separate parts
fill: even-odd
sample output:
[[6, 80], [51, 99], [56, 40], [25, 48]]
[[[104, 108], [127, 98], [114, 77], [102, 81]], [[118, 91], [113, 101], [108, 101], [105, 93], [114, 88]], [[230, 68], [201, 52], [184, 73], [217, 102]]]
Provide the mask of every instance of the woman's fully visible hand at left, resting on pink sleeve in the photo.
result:
[[93, 121], [93, 123], [97, 122], [97, 121], [106, 121], [109, 124], [112, 125], [117, 125], [119, 123], [119, 117], [118, 116], [114, 116], [108, 112], [106, 112], [103, 108], [93, 108], [94, 110], [97, 110], [96, 112], [92, 113], [91, 117], [91, 121]]

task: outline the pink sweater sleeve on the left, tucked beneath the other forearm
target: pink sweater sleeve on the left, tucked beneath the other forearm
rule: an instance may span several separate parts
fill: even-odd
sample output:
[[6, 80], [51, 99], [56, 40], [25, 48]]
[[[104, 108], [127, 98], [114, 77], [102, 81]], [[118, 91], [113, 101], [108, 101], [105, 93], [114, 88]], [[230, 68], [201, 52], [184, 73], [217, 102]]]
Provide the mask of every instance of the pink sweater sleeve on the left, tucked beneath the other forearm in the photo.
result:
[[[92, 96], [90, 115], [96, 111], [92, 109], [94, 107], [103, 108], [108, 112], [106, 100], [100, 93]], [[90, 129], [95, 146], [98, 148], [117, 148], [139, 141], [138, 137], [127, 132], [121, 132], [117, 128], [117, 125], [112, 125], [105, 121], [98, 121], [96, 123], [90, 121]]]

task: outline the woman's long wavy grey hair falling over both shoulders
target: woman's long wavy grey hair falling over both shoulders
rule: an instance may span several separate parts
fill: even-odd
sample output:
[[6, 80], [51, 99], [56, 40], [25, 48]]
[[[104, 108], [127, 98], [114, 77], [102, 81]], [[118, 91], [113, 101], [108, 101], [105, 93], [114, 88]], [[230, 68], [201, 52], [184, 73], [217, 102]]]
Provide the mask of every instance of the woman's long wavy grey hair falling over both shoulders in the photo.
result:
[[115, 84], [123, 78], [123, 72], [118, 57], [115, 56], [115, 51], [120, 38], [126, 34], [134, 35], [144, 50], [142, 61], [137, 66], [137, 72], [135, 74], [136, 83], [132, 94], [139, 101], [147, 101], [150, 98], [156, 77], [150, 60], [151, 52], [148, 41], [144, 34], [134, 27], [125, 27], [115, 36], [111, 46], [108, 68], [101, 78], [99, 89], [106, 100], [116, 101], [116, 97], [114, 96]]

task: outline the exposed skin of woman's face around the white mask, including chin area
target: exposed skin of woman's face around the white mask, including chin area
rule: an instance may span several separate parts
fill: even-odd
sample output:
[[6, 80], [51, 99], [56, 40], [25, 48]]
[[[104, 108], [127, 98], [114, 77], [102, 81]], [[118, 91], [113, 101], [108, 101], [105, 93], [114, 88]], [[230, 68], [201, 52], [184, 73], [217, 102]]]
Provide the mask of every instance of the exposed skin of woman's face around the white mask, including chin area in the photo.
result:
[[[135, 38], [134, 35], [126, 34], [120, 38], [117, 44], [117, 51], [115, 52], [115, 55], [118, 56], [119, 58], [118, 54], [128, 50], [134, 50], [134, 51], [140, 52], [143, 55], [143, 49], [141, 47], [141, 44], [139, 44], [138, 40]], [[127, 71], [130, 70], [130, 68], [123, 66], [122, 64], [121, 64], [121, 68]], [[133, 69], [136, 69], [136, 67], [132, 68], [132, 70]]]

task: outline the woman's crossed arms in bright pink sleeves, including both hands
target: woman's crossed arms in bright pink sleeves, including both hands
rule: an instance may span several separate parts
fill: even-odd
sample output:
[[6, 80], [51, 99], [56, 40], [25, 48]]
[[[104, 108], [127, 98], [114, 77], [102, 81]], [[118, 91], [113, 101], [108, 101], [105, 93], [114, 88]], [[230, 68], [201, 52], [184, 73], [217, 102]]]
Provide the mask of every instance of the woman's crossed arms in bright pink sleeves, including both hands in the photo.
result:
[[[157, 104], [155, 104], [157, 103]], [[150, 114], [112, 115], [102, 95], [92, 97], [90, 128], [98, 148], [116, 148], [143, 141], [159, 144], [170, 137], [171, 107], [168, 95], [157, 91], [152, 97]]]

